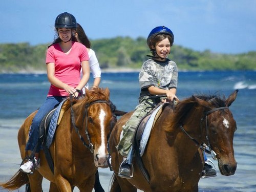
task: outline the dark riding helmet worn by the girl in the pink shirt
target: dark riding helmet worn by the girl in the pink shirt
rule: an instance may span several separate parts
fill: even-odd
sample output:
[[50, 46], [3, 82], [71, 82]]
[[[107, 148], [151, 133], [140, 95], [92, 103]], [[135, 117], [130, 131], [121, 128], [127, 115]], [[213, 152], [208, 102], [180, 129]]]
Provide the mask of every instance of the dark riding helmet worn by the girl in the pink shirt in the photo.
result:
[[72, 28], [76, 29], [77, 23], [76, 23], [76, 18], [68, 13], [60, 13], [56, 19], [55, 19], [55, 28]]

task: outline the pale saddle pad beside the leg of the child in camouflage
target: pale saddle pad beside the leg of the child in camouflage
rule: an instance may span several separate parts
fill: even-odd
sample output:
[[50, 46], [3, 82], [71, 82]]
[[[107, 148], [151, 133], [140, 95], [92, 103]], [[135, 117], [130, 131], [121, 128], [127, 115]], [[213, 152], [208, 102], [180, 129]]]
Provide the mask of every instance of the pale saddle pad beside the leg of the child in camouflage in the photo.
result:
[[150, 137], [150, 134], [151, 134], [152, 127], [154, 126], [156, 120], [162, 113], [162, 106], [163, 104], [160, 104], [158, 106], [158, 108], [152, 113], [151, 117], [148, 119], [146, 123], [145, 129], [143, 131], [143, 134], [140, 140], [140, 156], [142, 156], [144, 153], [148, 138]]

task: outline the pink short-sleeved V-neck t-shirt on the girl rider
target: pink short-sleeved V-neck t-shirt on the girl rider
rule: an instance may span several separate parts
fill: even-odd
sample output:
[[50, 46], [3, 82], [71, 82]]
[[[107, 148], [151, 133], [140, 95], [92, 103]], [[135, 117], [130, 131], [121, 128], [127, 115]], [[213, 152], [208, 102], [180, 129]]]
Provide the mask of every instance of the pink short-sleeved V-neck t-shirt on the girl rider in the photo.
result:
[[[59, 44], [49, 47], [46, 54], [46, 63], [55, 64], [55, 77], [74, 88], [80, 82], [81, 61], [84, 60], [89, 60], [87, 48], [79, 42], [73, 42], [69, 54], [65, 54]], [[47, 96], [69, 96], [69, 94], [51, 84]]]

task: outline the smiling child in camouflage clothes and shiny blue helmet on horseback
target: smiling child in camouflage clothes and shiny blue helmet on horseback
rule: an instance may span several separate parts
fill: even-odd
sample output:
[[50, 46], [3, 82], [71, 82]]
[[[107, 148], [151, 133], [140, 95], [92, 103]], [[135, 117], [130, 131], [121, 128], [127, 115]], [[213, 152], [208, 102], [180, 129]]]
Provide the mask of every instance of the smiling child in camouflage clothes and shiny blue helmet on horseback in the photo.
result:
[[[136, 127], [143, 116], [149, 113], [161, 100], [178, 100], [176, 96], [178, 69], [174, 61], [167, 58], [174, 42], [173, 32], [167, 27], [154, 28], [147, 37], [147, 45], [153, 56], [146, 60], [139, 74], [140, 97], [133, 115], [123, 126], [123, 135], [117, 146], [118, 152], [127, 157]], [[162, 99], [148, 99], [154, 95], [166, 95]], [[146, 102], [147, 101], [147, 102]], [[130, 178], [131, 165], [124, 160], [119, 176]]]

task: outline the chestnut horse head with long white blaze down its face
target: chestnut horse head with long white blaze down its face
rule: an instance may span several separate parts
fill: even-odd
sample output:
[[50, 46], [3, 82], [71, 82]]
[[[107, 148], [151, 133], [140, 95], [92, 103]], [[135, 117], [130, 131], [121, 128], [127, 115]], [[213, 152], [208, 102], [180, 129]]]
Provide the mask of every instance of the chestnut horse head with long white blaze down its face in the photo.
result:
[[83, 144], [94, 156], [96, 167], [107, 167], [107, 142], [110, 134], [112, 111], [108, 88], [86, 90], [86, 96], [74, 104], [77, 132]]

